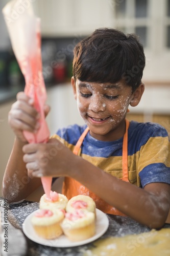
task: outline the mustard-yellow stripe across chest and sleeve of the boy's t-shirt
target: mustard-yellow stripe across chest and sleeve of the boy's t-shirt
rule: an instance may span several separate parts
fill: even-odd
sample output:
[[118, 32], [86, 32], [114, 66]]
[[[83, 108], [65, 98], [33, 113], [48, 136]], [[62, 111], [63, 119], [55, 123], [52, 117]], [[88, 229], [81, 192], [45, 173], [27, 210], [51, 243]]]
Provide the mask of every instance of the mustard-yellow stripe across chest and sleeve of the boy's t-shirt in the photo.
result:
[[[71, 151], [74, 150], [74, 145], [69, 144], [58, 135], [53, 135], [51, 138], [60, 140], [70, 148]], [[79, 155], [80, 154], [81, 150], [79, 151]], [[85, 154], [82, 154], [81, 156], [93, 165], [103, 169], [106, 173], [117, 178], [122, 178], [122, 156], [109, 158], [91, 157]], [[132, 184], [140, 186], [139, 172], [145, 166], [153, 163], [164, 163], [167, 167], [170, 167], [170, 143], [168, 141], [168, 137], [151, 137], [147, 144], [141, 146], [140, 151], [128, 156], [129, 181]]]

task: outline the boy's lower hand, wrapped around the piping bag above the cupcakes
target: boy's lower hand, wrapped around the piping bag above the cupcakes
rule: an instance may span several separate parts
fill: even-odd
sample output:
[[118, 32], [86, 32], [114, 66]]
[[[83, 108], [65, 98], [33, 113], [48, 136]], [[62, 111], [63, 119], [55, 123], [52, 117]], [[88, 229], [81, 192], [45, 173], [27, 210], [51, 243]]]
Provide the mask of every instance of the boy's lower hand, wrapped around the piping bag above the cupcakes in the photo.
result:
[[35, 177], [67, 176], [74, 154], [57, 139], [47, 143], [26, 144], [22, 148], [23, 161]]

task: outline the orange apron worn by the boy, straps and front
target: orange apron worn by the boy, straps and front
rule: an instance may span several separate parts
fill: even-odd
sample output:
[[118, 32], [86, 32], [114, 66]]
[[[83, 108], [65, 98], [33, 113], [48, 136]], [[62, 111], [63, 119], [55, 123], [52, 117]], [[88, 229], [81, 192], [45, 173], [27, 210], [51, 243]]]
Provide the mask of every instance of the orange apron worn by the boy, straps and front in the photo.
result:
[[[121, 180], [124, 180], [127, 182], [129, 182], [129, 179], [128, 179], [128, 127], [129, 127], [129, 121], [126, 119], [126, 132], [123, 139], [123, 155], [122, 155], [123, 178], [121, 178]], [[80, 147], [88, 131], [89, 131], [89, 128], [87, 127], [82, 133], [82, 135], [80, 136], [73, 151], [75, 155], [78, 155]], [[86, 188], [81, 183], [79, 183], [78, 181], [72, 178], [65, 177], [63, 182], [63, 187], [62, 187], [62, 194], [64, 194], [68, 199], [70, 199], [80, 194], [79, 188], [81, 188], [81, 190], [83, 188], [83, 195], [87, 195], [95, 201], [96, 208], [102, 210], [106, 214], [125, 216], [122, 212], [118, 211], [116, 208], [106, 203], [103, 199], [95, 195], [88, 188]]]

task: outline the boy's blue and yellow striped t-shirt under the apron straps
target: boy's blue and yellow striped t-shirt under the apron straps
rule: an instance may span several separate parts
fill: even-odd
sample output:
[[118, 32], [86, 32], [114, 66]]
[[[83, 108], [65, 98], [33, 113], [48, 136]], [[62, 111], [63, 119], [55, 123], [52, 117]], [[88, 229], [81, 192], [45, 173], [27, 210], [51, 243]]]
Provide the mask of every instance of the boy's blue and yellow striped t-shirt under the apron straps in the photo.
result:
[[[60, 129], [52, 137], [59, 139], [73, 151], [86, 127], [70, 125]], [[88, 133], [79, 155], [106, 173], [122, 178], [122, 148], [123, 138], [109, 142], [99, 141]], [[153, 182], [170, 184], [170, 143], [168, 134], [161, 125], [130, 122], [128, 177], [132, 184], [139, 187]]]

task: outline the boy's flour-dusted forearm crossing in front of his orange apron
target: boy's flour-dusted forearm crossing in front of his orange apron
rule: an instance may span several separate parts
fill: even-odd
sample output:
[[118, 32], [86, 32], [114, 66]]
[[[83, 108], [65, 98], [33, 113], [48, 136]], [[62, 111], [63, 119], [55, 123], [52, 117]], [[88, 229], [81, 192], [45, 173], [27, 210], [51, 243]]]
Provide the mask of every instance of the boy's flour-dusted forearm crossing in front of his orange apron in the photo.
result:
[[[161, 226], [161, 222], [163, 225], [166, 216], [162, 214], [156, 195], [106, 174], [102, 169], [80, 157], [77, 160], [72, 178], [78, 180], [108, 204], [113, 205], [113, 207], [141, 224], [153, 228]], [[165, 207], [168, 207], [168, 202]]]

